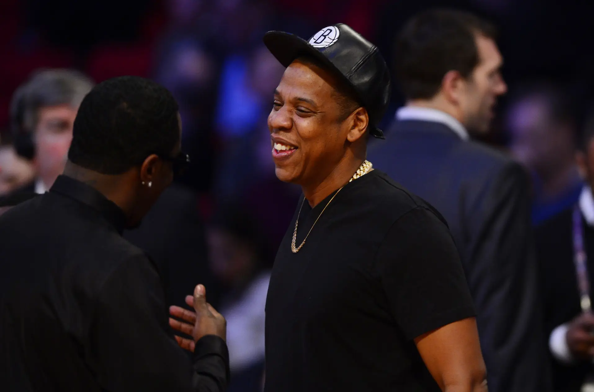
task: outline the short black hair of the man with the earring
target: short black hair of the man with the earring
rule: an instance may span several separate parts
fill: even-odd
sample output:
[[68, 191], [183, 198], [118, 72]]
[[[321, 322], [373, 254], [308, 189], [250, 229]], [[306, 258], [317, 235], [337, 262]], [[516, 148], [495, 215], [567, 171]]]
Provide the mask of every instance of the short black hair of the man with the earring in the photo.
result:
[[74, 121], [68, 159], [116, 175], [150, 154], [171, 156], [179, 143], [178, 103], [154, 81], [123, 76], [98, 84]]

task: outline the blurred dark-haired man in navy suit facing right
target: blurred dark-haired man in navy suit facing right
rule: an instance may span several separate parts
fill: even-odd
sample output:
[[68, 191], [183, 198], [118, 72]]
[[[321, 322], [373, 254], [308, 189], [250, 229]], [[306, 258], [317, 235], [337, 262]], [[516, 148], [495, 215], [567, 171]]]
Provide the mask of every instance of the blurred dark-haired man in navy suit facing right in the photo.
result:
[[397, 40], [406, 106], [369, 159], [429, 201], [453, 233], [477, 310], [489, 391], [545, 391], [545, 347], [530, 241], [528, 179], [519, 164], [470, 141], [489, 129], [507, 86], [492, 26], [429, 10]]

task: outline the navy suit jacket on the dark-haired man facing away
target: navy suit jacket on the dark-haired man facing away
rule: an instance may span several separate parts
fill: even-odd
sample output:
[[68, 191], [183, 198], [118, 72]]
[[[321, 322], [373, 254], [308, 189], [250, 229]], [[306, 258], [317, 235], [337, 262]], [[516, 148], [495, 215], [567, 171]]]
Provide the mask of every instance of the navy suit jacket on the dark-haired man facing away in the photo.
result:
[[489, 392], [550, 390], [522, 167], [447, 125], [417, 120], [396, 121], [368, 155], [447, 220], [475, 301]]

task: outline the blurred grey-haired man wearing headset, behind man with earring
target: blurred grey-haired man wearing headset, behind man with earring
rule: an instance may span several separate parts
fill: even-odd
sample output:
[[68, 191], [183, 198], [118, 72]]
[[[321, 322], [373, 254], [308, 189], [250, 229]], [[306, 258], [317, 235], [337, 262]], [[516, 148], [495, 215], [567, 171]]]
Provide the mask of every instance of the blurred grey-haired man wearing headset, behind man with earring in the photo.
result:
[[[43, 194], [64, 170], [78, 106], [93, 83], [70, 69], [34, 72], [12, 95], [11, 131], [18, 155], [31, 160], [37, 178], [0, 196], [0, 214], [8, 207]], [[200, 276], [208, 299], [216, 302], [217, 287], [208, 268], [204, 225], [197, 195], [172, 184], [134, 230], [124, 238], [146, 251], [159, 265], [168, 305], [183, 305]]]

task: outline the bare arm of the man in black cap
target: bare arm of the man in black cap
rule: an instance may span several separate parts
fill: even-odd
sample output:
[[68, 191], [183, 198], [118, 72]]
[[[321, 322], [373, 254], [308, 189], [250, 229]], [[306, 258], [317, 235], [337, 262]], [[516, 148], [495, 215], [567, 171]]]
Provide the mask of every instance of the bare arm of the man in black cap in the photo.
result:
[[486, 368], [482, 360], [474, 318], [455, 321], [415, 339], [427, 369], [445, 392], [486, 392]]

